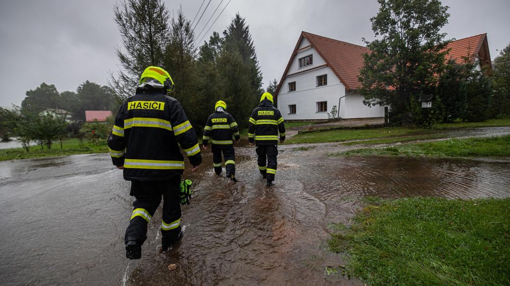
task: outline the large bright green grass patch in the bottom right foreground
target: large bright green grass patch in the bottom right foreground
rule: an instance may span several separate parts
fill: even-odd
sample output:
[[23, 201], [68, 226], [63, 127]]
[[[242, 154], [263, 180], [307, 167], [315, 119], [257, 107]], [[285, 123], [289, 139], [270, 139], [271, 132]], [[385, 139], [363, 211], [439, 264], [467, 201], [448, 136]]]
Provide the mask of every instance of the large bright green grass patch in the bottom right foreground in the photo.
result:
[[330, 250], [368, 285], [510, 284], [510, 198], [381, 201], [331, 232]]

